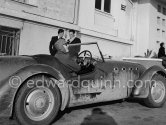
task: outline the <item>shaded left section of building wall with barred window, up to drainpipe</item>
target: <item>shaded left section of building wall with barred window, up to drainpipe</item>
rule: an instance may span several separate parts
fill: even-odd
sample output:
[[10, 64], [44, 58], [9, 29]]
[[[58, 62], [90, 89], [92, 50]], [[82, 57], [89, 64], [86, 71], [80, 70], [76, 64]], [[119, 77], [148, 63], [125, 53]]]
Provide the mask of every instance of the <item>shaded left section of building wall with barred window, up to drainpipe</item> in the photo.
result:
[[77, 4], [77, 0], [1, 0], [1, 55], [48, 54], [59, 27], [79, 31]]

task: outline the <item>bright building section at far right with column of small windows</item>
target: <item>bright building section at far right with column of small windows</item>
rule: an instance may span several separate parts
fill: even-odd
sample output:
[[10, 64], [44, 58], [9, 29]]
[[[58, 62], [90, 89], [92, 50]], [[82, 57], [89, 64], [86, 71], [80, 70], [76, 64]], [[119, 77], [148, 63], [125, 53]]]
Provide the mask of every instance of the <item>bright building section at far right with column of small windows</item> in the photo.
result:
[[158, 53], [161, 42], [166, 42], [166, 1], [135, 0], [135, 54], [144, 55], [147, 49]]

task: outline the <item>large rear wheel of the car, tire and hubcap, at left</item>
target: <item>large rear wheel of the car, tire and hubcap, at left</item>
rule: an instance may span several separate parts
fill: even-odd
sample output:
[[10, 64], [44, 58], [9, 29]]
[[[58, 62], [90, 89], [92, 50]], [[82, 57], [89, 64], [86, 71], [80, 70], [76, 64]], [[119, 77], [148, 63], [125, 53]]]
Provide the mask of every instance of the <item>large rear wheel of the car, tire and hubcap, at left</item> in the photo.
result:
[[[21, 125], [50, 125], [58, 115], [61, 106], [60, 90], [57, 85], [47, 86], [45, 82], [43, 84], [43, 79], [51, 80], [46, 76], [34, 76], [27, 80], [17, 93], [14, 116]], [[30, 87], [29, 81], [41, 83]]]

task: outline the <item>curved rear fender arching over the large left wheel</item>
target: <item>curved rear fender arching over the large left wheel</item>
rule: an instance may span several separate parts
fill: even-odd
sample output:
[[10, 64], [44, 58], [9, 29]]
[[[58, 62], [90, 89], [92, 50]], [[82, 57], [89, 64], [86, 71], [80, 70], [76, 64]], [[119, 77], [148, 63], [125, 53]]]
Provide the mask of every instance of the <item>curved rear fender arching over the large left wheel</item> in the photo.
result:
[[[60, 82], [64, 82], [63, 87], [58, 86], [61, 92], [61, 100], [62, 100], [60, 110], [64, 110], [69, 101], [69, 87], [65, 82], [65, 78], [55, 68], [52, 68], [44, 64], [35, 64], [18, 70], [12, 76], [9, 76], [7, 79], [5, 79], [2, 82], [2, 84], [0, 84], [0, 107], [2, 106], [2, 108], [0, 108], [0, 112], [1, 113], [4, 112], [5, 116], [11, 116], [14, 106], [13, 105], [14, 100], [16, 98], [18, 90], [21, 88], [21, 85], [24, 84], [25, 81], [30, 77], [39, 74], [49, 75], [53, 79], [56, 79]], [[13, 84], [12, 80], [16, 81], [17, 83]]]

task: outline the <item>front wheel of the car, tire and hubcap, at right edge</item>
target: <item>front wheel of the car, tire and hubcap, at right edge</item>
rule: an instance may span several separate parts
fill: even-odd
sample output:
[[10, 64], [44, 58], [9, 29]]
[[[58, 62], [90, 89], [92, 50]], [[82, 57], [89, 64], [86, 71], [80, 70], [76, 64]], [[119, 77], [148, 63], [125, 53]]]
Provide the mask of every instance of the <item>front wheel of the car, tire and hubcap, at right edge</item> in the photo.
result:
[[[146, 106], [150, 108], [162, 107], [166, 101], [166, 79], [157, 74], [152, 80], [155, 84], [151, 84], [149, 89], [149, 95], [144, 99]], [[154, 82], [156, 81], [156, 82]]]

